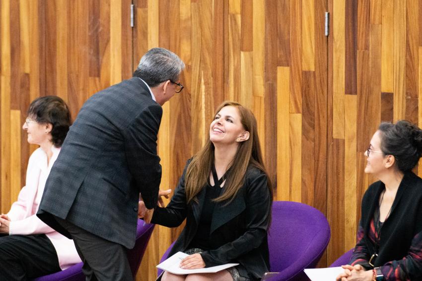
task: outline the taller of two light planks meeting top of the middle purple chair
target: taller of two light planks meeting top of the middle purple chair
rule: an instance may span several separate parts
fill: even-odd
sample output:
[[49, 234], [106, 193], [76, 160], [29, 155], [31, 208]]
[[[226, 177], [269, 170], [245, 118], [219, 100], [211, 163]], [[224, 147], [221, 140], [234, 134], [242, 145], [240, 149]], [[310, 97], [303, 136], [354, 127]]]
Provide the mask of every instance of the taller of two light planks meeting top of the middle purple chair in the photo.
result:
[[290, 189], [290, 69], [277, 67], [277, 200], [288, 201]]

